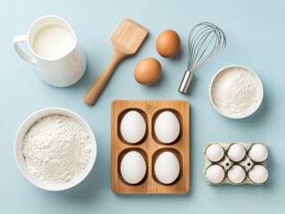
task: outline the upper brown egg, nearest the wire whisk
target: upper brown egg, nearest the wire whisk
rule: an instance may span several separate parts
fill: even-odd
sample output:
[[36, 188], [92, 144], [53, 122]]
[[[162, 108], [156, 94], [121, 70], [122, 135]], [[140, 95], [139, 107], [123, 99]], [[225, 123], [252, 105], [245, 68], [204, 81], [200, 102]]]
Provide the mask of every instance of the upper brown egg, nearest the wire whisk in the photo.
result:
[[161, 56], [173, 57], [180, 51], [180, 37], [174, 30], [167, 29], [157, 37], [155, 46]]

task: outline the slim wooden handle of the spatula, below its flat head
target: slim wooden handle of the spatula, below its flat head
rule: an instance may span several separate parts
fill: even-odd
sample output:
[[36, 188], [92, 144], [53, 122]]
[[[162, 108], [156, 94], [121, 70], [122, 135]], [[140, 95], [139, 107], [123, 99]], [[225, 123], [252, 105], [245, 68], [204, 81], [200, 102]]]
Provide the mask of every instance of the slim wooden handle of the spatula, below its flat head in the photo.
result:
[[113, 48], [113, 58], [105, 70], [96, 78], [92, 86], [89, 87], [88, 92], [84, 96], [84, 102], [92, 105], [96, 102], [96, 98], [100, 95], [103, 88], [107, 84], [109, 78], [113, 74], [113, 70], [117, 67], [128, 54], [122, 53], [116, 48]]

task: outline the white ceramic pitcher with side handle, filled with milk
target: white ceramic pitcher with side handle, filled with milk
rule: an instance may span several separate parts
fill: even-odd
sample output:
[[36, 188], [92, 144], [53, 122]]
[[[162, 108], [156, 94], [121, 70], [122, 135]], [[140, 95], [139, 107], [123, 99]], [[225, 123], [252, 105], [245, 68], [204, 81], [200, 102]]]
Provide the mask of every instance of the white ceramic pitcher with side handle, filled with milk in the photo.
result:
[[[26, 42], [34, 56], [21, 50]], [[28, 35], [14, 37], [13, 46], [21, 58], [35, 64], [38, 76], [52, 86], [71, 86], [86, 70], [86, 56], [80, 50], [71, 26], [54, 15], [40, 17], [29, 27]]]

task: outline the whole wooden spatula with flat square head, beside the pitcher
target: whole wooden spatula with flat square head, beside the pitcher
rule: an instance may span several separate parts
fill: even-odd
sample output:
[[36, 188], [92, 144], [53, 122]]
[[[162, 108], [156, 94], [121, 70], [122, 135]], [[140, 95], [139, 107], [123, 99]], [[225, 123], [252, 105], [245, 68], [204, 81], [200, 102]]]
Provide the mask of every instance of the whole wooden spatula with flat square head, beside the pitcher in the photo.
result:
[[142, 44], [145, 37], [147, 37], [147, 32], [147, 29], [135, 21], [126, 19], [121, 22], [111, 38], [113, 59], [89, 88], [84, 97], [85, 103], [88, 105], [95, 103], [96, 98], [100, 95], [108, 79], [111, 77], [113, 70], [124, 58], [138, 51], [138, 47]]

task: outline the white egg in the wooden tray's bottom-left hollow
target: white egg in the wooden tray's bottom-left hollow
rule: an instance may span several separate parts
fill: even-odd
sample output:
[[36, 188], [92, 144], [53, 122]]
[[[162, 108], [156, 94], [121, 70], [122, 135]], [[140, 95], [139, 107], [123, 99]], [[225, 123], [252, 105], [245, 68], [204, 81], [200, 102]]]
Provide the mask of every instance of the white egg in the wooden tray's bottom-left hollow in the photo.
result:
[[128, 152], [122, 158], [120, 170], [126, 182], [131, 185], [138, 184], [146, 176], [146, 161], [139, 152]]

